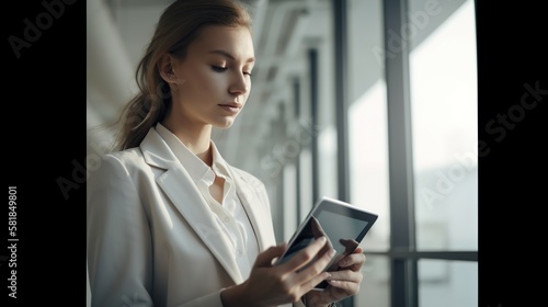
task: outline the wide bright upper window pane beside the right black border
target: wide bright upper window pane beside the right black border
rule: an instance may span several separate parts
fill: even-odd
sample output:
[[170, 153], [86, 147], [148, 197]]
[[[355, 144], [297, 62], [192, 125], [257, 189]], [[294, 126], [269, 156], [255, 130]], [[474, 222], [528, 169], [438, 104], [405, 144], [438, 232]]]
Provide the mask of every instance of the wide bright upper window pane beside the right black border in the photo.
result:
[[[411, 21], [427, 12], [436, 18], [409, 27], [420, 29], [409, 34], [416, 45], [410, 53], [410, 81], [418, 249], [477, 250], [473, 1], [450, 8], [411, 2], [416, 8], [409, 14]], [[444, 21], [436, 23], [439, 19]]]

